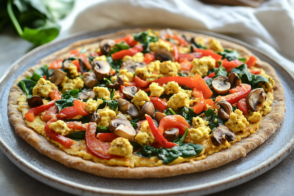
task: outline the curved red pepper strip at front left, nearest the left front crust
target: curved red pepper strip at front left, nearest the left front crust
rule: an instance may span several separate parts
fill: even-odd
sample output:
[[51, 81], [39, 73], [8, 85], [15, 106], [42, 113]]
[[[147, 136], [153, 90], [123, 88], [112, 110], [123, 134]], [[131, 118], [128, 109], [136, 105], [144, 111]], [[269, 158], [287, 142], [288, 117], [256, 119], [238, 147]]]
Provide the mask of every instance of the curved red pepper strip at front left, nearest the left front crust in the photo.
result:
[[45, 132], [46, 132], [46, 135], [51, 140], [61, 143], [61, 145], [63, 145], [65, 148], [70, 148], [71, 145], [74, 144], [74, 140], [71, 140], [69, 138], [66, 138], [66, 137], [60, 135], [60, 133], [56, 133], [54, 130], [52, 130], [52, 129], [49, 128], [50, 123], [54, 123], [56, 121], [57, 121], [57, 119], [56, 119], [56, 117], [54, 117], [54, 118], [51, 118], [51, 120], [49, 120], [45, 124]]

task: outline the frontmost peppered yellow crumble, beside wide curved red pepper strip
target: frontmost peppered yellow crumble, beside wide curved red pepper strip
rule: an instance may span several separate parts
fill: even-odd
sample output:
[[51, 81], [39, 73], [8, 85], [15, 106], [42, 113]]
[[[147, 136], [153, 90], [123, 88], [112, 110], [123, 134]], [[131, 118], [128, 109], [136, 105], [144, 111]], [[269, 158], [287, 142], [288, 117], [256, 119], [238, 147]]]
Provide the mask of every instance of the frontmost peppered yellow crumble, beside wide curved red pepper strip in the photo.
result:
[[133, 146], [129, 142], [129, 140], [120, 137], [114, 139], [110, 143], [111, 147], [109, 148], [108, 152], [111, 155], [118, 155], [122, 157], [129, 157], [133, 153]]

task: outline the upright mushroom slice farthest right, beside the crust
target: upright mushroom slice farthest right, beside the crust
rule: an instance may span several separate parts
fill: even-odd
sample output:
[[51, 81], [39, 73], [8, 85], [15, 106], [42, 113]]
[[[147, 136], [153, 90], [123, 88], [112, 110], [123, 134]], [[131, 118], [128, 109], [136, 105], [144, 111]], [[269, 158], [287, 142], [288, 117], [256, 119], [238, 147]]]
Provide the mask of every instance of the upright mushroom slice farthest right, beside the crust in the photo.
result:
[[266, 94], [263, 88], [255, 88], [246, 97], [247, 108], [252, 111], [257, 111], [257, 104], [263, 103], [266, 100]]

